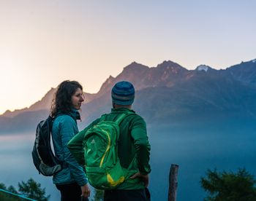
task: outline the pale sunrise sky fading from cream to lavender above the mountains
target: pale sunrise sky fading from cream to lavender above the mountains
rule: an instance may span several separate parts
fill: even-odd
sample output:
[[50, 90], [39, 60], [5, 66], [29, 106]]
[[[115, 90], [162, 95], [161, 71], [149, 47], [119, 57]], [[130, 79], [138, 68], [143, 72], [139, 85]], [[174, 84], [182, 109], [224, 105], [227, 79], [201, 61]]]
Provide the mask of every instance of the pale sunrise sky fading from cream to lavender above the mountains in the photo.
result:
[[225, 69], [256, 58], [254, 0], [0, 0], [0, 114], [136, 61]]

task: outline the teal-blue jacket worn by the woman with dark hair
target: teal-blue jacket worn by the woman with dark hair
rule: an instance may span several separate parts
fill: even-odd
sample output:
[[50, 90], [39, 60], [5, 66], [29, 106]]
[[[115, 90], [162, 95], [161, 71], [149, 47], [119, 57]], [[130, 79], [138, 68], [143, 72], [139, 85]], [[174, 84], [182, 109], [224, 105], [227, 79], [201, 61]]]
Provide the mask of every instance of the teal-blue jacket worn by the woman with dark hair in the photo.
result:
[[71, 184], [77, 182], [79, 186], [87, 184], [83, 167], [67, 149], [67, 143], [78, 133], [77, 119], [80, 114], [72, 110], [69, 114], [58, 114], [53, 122], [53, 147], [56, 157], [64, 162], [64, 169], [53, 176], [53, 184]]

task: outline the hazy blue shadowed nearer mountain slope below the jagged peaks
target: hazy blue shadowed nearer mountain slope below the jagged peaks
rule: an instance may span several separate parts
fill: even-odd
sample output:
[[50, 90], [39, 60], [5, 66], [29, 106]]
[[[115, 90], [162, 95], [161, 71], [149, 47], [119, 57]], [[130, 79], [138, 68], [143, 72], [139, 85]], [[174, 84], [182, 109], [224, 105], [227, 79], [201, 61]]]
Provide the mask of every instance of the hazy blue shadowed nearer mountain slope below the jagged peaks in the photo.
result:
[[[227, 117], [256, 118], [255, 87], [245, 86], [214, 69], [186, 72], [186, 76], [177, 79], [171, 87], [162, 82], [162, 86], [136, 91], [135, 96], [135, 111], [150, 124], [226, 121]], [[85, 125], [109, 112], [110, 107], [110, 93], [84, 105]]]

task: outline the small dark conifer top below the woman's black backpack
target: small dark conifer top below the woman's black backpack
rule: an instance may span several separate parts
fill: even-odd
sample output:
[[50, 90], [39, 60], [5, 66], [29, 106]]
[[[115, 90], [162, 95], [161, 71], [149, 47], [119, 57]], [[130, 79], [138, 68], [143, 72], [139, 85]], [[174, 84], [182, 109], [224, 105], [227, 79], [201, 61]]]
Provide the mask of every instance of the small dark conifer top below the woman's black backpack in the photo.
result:
[[50, 198], [50, 195], [45, 196], [45, 188], [41, 189], [41, 184], [32, 178], [29, 178], [27, 182], [21, 181], [21, 183], [18, 183], [18, 188], [20, 194], [37, 201], [48, 201]]

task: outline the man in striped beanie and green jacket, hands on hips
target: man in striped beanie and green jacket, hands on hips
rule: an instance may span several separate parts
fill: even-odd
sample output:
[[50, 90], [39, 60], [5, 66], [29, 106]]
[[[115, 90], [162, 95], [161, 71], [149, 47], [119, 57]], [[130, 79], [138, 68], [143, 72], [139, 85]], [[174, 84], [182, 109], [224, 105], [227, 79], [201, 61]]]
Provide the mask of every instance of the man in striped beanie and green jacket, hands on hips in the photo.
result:
[[[116, 189], [105, 190], [105, 201], [140, 201], [150, 200], [148, 189], [148, 173], [151, 172], [149, 165], [150, 145], [146, 133], [146, 122], [135, 111], [132, 103], [135, 99], [135, 88], [130, 82], [118, 82], [111, 91], [113, 109], [107, 114], [108, 121], [116, 121], [121, 114], [129, 115], [120, 123], [120, 136], [118, 140], [118, 157], [121, 167], [128, 170], [129, 176]], [[71, 141], [68, 148], [80, 164], [85, 164], [83, 154], [83, 136], [86, 130], [99, 122], [96, 119], [78, 133]]]

